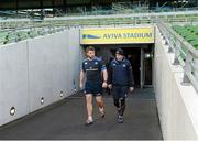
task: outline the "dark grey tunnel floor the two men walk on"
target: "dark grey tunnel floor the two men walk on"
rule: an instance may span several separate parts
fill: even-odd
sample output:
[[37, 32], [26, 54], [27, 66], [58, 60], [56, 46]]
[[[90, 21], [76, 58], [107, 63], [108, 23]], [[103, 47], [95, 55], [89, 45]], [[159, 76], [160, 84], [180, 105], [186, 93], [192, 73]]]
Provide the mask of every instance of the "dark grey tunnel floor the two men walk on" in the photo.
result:
[[0, 128], [0, 140], [162, 140], [155, 96], [152, 88], [136, 89], [127, 99], [124, 122], [117, 122], [111, 96], [105, 95], [106, 117], [99, 117], [94, 101], [94, 119], [86, 127], [86, 105], [82, 94], [70, 96], [55, 105], [31, 113]]

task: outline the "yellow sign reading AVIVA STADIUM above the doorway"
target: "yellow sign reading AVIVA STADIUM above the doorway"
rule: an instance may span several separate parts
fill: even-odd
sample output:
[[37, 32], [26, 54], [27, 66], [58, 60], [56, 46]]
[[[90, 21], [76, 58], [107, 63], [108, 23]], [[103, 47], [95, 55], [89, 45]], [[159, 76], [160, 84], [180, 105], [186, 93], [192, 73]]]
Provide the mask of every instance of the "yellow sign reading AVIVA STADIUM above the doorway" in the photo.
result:
[[154, 28], [81, 29], [80, 44], [154, 43]]

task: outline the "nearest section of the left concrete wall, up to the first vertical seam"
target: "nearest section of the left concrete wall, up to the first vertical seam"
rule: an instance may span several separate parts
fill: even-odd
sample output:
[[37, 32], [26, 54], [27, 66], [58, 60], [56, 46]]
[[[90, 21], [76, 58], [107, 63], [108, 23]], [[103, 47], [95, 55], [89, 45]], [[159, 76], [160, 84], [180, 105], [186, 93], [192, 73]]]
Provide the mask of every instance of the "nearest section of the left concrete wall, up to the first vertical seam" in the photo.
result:
[[[14, 107], [16, 113], [10, 116]], [[0, 124], [29, 112], [26, 42], [0, 47]]]

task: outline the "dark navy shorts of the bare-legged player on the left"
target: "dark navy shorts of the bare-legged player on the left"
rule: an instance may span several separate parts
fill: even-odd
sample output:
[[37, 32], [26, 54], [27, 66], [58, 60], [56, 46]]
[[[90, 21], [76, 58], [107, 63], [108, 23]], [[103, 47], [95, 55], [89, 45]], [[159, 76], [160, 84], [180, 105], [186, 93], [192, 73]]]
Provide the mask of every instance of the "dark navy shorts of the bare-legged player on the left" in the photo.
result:
[[85, 94], [92, 94], [94, 96], [102, 95], [102, 83], [100, 82], [86, 82]]

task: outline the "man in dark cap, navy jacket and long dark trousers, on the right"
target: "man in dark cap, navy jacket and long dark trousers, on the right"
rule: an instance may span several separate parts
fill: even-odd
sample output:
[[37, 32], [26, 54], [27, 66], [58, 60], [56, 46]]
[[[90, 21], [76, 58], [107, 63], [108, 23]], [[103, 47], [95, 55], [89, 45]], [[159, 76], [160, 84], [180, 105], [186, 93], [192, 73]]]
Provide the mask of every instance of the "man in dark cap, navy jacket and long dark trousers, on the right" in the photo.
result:
[[108, 73], [109, 88], [112, 90], [114, 106], [118, 108], [118, 122], [123, 122], [128, 90], [134, 90], [131, 63], [124, 57], [122, 48], [117, 50], [116, 58], [110, 63]]

